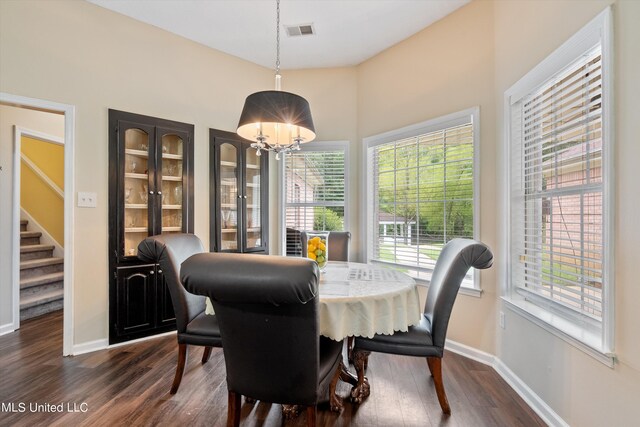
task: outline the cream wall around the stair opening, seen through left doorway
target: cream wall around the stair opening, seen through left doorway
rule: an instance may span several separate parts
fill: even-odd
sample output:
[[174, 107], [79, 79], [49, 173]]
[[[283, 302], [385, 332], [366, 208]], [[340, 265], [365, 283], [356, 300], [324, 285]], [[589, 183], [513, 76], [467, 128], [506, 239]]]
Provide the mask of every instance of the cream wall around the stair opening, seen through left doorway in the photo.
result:
[[[2, 52], [0, 50], [0, 53]], [[64, 136], [64, 117], [59, 114], [0, 105], [0, 166], [2, 166], [2, 171], [0, 171], [0, 200], [2, 201], [0, 202], [0, 327], [13, 322], [11, 311], [13, 298], [11, 289], [13, 213], [11, 207], [13, 203], [11, 200], [13, 197], [14, 126], [61, 138]]]

